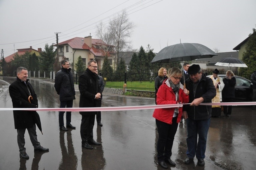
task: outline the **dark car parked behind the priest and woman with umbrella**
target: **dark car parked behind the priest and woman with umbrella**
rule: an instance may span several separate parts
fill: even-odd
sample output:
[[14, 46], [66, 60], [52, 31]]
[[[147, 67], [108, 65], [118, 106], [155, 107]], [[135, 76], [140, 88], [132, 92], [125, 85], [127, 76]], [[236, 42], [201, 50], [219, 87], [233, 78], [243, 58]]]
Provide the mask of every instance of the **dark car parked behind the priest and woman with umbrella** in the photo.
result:
[[[208, 75], [207, 77], [210, 77]], [[219, 74], [219, 77], [222, 79], [226, 77], [224, 74]], [[235, 86], [235, 98], [234, 102], [252, 102], [252, 83], [250, 80], [240, 77], [236, 77], [236, 86]]]

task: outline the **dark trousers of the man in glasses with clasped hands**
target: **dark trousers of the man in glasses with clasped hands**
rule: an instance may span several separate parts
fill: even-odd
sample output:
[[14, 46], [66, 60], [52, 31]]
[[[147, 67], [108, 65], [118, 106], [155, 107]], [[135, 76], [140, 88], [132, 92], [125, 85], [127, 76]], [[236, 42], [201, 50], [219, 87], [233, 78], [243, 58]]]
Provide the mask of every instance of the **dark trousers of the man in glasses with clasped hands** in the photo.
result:
[[94, 115], [82, 115], [80, 135], [82, 139], [82, 144], [86, 143], [88, 140], [93, 139], [93, 126], [95, 121]]

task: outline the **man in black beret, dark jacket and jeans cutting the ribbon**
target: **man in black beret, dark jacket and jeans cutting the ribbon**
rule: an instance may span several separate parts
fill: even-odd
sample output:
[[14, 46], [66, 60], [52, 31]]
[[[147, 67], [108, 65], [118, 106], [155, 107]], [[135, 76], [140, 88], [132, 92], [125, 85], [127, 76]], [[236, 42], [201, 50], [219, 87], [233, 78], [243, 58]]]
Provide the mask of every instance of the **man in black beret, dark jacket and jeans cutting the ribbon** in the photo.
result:
[[[189, 103], [183, 108], [183, 117], [187, 119], [187, 158], [185, 164], [190, 164], [194, 157], [198, 159], [197, 164], [204, 166], [207, 133], [210, 126], [212, 113], [211, 105], [200, 105], [200, 103], [211, 103], [216, 96], [216, 89], [212, 79], [202, 73], [199, 65], [191, 65], [188, 68], [190, 78], [186, 80], [186, 88], [189, 90]], [[198, 142], [197, 142], [198, 135]]]

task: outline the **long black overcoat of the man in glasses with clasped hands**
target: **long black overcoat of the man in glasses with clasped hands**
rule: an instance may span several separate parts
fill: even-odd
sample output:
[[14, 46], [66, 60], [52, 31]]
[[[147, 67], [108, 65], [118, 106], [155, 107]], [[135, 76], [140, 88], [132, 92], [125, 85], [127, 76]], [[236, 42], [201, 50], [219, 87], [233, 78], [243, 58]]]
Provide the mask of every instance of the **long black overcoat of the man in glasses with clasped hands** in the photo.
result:
[[[80, 108], [94, 108], [98, 107], [98, 102], [95, 99], [95, 95], [99, 93], [99, 81], [96, 73], [90, 71], [90, 69], [86, 69], [86, 71], [81, 74], [78, 79], [79, 82], [79, 91], [80, 91]], [[97, 114], [96, 111], [80, 111], [81, 115], [93, 115]]]

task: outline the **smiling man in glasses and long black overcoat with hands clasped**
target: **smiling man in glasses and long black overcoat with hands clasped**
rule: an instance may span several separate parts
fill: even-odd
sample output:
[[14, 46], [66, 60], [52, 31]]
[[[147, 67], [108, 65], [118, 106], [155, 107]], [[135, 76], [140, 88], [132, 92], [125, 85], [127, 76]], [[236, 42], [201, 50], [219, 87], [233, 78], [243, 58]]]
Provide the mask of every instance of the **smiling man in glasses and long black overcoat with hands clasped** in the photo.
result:
[[[91, 60], [88, 62], [86, 71], [79, 77], [79, 91], [80, 91], [80, 108], [98, 107], [99, 81], [96, 71], [98, 69], [97, 62]], [[93, 149], [90, 144], [100, 145], [101, 143], [93, 140], [93, 126], [95, 115], [97, 111], [80, 111], [82, 115], [80, 134], [82, 139], [82, 147], [86, 149]]]

